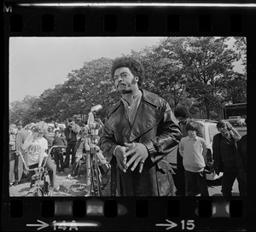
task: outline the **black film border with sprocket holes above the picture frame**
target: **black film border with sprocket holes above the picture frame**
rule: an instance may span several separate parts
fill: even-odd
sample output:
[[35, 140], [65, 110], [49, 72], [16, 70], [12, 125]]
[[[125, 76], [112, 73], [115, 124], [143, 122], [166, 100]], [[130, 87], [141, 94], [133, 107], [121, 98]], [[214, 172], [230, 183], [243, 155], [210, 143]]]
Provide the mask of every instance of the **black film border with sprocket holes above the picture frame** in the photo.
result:
[[6, 13], [9, 36], [244, 36], [255, 16], [247, 9], [20, 9]]

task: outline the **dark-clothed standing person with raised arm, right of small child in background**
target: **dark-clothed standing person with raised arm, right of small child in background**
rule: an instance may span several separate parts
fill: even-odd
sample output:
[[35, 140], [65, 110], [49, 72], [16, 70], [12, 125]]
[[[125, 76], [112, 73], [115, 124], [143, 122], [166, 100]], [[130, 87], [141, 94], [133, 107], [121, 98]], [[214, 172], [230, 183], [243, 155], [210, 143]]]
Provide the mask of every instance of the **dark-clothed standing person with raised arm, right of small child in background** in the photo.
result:
[[80, 127], [75, 124], [74, 119], [70, 118], [67, 120], [67, 127], [64, 130], [64, 135], [67, 140], [66, 158], [63, 167], [69, 167], [70, 165], [70, 154], [72, 154], [71, 165], [73, 165], [75, 157], [75, 148], [78, 142]]

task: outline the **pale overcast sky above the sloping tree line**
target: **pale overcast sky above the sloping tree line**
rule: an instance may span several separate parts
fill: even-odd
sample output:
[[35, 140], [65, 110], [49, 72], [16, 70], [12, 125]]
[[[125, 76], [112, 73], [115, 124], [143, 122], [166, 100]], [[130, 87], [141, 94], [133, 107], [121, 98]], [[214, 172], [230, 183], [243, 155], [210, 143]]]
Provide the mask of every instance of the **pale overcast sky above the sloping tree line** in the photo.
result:
[[63, 84], [84, 61], [130, 55], [160, 42], [160, 37], [9, 38], [9, 102]]

